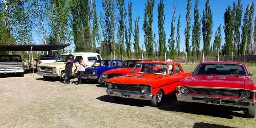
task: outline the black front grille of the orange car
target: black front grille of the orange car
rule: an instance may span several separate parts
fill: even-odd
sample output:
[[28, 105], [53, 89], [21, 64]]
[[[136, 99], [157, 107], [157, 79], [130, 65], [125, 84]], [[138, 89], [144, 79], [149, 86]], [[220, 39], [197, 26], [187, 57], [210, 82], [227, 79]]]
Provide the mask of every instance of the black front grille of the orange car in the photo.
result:
[[[142, 91], [142, 86], [137, 85], [122, 85], [122, 84], [113, 84], [113, 89], [125, 90], [125, 91]], [[151, 92], [151, 87], [149, 87], [149, 93]]]

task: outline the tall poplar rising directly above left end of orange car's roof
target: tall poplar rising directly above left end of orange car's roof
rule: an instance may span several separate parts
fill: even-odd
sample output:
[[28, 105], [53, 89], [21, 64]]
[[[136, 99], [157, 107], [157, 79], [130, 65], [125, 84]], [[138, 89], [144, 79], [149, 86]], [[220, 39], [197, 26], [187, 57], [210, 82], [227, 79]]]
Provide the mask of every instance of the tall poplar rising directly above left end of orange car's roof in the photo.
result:
[[153, 9], [155, 0], [148, 0], [145, 5], [145, 15], [142, 30], [144, 31], [144, 44], [148, 57], [152, 57], [154, 54], [153, 44]]

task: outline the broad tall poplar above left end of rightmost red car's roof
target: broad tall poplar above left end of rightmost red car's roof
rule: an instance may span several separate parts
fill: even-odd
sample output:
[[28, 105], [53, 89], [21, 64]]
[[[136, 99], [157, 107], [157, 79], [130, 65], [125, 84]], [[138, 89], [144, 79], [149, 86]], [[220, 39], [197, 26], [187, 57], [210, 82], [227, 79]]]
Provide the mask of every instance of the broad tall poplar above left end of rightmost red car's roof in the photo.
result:
[[205, 10], [202, 16], [202, 34], [203, 34], [203, 52], [205, 55], [209, 54], [210, 41], [212, 39], [212, 10], [210, 9], [209, 0], [206, 1]]

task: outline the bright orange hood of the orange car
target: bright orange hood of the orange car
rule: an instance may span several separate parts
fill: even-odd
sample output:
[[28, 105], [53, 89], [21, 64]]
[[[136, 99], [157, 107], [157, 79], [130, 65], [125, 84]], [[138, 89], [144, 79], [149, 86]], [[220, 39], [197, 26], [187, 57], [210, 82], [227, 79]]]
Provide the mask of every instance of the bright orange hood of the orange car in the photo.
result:
[[151, 85], [154, 80], [165, 78], [163, 74], [128, 74], [110, 78], [107, 82], [118, 83], [118, 84], [132, 84], [132, 85]]

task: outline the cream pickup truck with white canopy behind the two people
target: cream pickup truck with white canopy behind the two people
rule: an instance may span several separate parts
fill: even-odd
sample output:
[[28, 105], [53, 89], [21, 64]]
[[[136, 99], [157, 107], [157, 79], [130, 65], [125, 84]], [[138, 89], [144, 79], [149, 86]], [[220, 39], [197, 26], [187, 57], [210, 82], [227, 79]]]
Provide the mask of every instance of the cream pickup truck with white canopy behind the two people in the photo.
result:
[[[94, 64], [95, 60], [101, 60], [101, 56], [98, 53], [90, 53], [90, 52], [75, 52], [71, 53], [73, 58], [76, 60], [76, 65], [79, 66], [77, 60], [82, 58], [85, 60], [87, 67], [91, 67]], [[52, 78], [60, 78], [60, 80], [66, 79], [65, 74], [65, 60], [68, 54], [60, 55], [56, 62], [47, 63], [47, 64], [38, 64], [37, 65], [37, 74], [42, 75], [45, 80], [50, 80]], [[73, 71], [75, 70], [75, 65], [73, 65]], [[74, 75], [74, 72], [72, 73]]]

